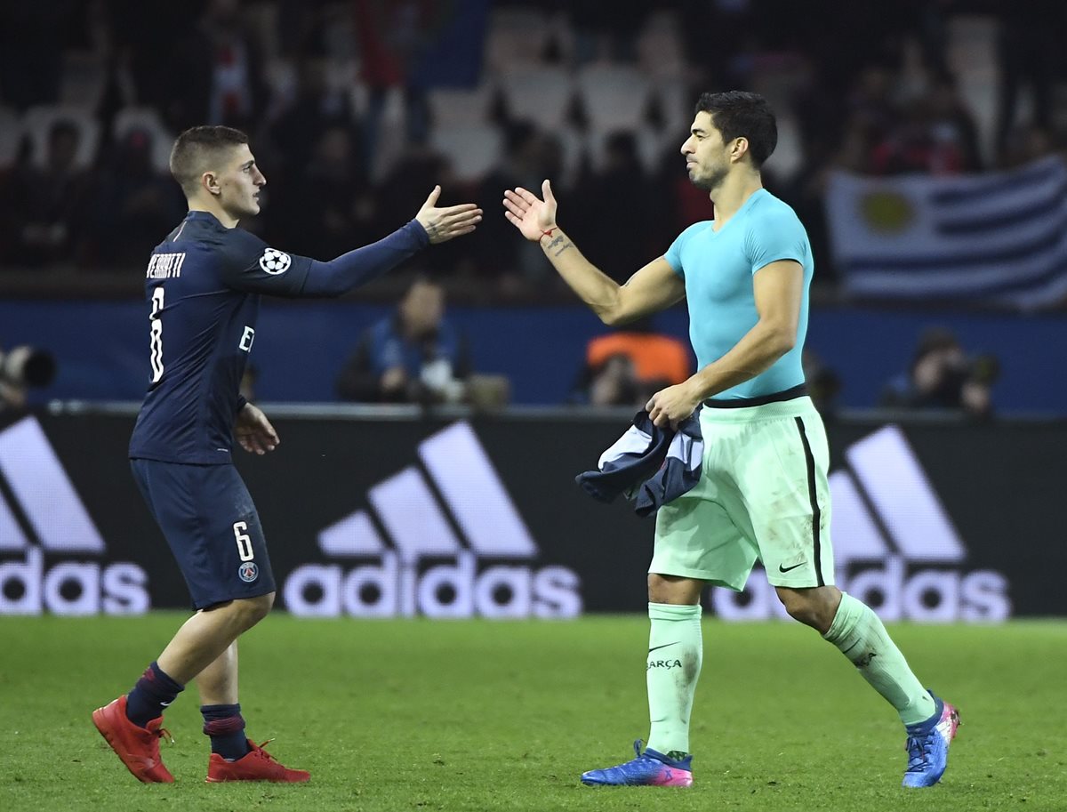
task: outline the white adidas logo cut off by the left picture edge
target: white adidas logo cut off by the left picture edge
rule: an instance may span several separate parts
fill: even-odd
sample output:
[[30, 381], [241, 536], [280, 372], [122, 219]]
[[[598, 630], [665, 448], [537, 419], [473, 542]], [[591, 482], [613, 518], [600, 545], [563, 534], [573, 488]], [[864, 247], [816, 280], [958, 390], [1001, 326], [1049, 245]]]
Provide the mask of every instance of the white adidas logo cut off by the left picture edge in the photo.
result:
[[133, 615], [148, 609], [134, 563], [71, 559], [106, 552], [34, 417], [0, 431], [0, 615]]

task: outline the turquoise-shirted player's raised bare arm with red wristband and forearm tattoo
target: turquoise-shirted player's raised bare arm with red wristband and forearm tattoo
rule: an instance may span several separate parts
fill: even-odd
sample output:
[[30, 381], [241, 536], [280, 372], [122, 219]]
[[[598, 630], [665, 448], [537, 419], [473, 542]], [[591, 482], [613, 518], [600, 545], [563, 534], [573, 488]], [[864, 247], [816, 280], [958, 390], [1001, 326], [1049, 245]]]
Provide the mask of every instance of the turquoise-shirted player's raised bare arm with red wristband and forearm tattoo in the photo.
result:
[[507, 190], [504, 216], [523, 237], [541, 244], [559, 275], [605, 324], [625, 324], [685, 297], [685, 283], [663, 257], [646, 265], [625, 285], [604, 274], [559, 227], [558, 204], [547, 180], [541, 192], [543, 200], [521, 187]]

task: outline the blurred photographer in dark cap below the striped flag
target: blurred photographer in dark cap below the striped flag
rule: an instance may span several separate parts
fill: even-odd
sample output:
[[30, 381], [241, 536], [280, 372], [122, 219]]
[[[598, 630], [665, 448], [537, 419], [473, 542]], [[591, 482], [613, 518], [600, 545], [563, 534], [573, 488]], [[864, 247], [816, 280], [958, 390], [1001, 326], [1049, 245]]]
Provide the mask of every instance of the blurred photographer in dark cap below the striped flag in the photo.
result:
[[960, 410], [973, 417], [989, 417], [991, 388], [999, 373], [996, 357], [968, 355], [952, 331], [930, 328], [920, 338], [907, 375], [887, 384], [880, 405]]

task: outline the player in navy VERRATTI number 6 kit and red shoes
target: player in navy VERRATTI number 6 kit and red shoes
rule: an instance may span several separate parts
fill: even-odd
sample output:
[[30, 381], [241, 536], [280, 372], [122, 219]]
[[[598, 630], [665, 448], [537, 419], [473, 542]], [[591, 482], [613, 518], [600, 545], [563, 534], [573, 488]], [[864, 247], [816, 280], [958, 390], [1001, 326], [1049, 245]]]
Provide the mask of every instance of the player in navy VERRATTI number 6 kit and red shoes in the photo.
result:
[[171, 153], [171, 173], [189, 213], [153, 252], [148, 393], [130, 440], [134, 479], [189, 586], [196, 612], [128, 695], [93, 722], [141, 781], [174, 778], [160, 760], [163, 710], [195, 679], [204, 732], [211, 737], [207, 781], [306, 781], [244, 735], [238, 703], [237, 638], [274, 602], [274, 577], [255, 506], [230, 459], [278, 444], [266, 415], [238, 394], [255, 340], [260, 294], [335, 297], [430, 244], [473, 232], [474, 204], [437, 207], [441, 188], [415, 218], [379, 242], [322, 262], [268, 246], [241, 228], [259, 211], [267, 184], [248, 137], [194, 127]]

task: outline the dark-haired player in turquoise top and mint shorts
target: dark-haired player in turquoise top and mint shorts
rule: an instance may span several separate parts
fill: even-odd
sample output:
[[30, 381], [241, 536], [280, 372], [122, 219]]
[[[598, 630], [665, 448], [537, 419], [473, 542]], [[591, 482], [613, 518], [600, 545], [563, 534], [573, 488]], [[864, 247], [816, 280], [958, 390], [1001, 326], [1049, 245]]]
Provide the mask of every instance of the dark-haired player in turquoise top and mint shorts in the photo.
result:
[[915, 679], [878, 616], [833, 586], [829, 452], [808, 397], [800, 353], [814, 262], [796, 213], [763, 188], [760, 168], [778, 140], [759, 95], [707, 93], [682, 145], [689, 179], [708, 192], [715, 220], [696, 223], [666, 255], [618, 285], [559, 227], [543, 198], [505, 192], [505, 216], [607, 324], [683, 298], [698, 371], [657, 392], [647, 409], [676, 426], [701, 403], [700, 482], [662, 507], [649, 568], [647, 681], [651, 731], [637, 758], [583, 774], [593, 785], [688, 786], [689, 714], [700, 674], [700, 595], [708, 584], [744, 588], [757, 560], [789, 614], [817, 630], [896, 708], [907, 731], [905, 786], [944, 773], [956, 708]]

